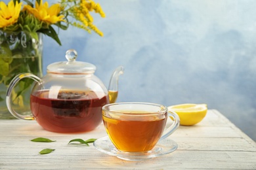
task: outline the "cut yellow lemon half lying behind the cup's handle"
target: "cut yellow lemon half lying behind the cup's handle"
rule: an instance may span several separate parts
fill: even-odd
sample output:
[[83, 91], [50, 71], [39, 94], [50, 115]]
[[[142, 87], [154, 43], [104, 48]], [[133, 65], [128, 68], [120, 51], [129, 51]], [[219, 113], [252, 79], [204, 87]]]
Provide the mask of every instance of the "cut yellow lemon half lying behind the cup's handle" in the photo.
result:
[[203, 120], [207, 113], [206, 104], [185, 103], [168, 107], [169, 110], [176, 112], [180, 117], [180, 124], [183, 126], [192, 126]]

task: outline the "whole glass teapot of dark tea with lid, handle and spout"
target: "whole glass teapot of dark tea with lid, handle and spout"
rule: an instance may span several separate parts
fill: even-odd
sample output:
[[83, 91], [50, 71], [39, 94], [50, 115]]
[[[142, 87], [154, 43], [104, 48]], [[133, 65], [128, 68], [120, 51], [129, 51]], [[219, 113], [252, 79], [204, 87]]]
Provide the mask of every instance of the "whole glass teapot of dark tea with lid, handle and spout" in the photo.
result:
[[[93, 73], [91, 63], [75, 61], [77, 52], [68, 50], [68, 61], [48, 65], [47, 75], [39, 78], [22, 73], [13, 78], [7, 89], [7, 108], [13, 116], [23, 120], [36, 120], [48, 131], [59, 133], [84, 132], [95, 129], [102, 122], [103, 105], [114, 103], [117, 98], [119, 75], [123, 67], [114, 71], [108, 90]], [[12, 90], [22, 78], [35, 80], [30, 95], [33, 116], [24, 116], [12, 108]]]

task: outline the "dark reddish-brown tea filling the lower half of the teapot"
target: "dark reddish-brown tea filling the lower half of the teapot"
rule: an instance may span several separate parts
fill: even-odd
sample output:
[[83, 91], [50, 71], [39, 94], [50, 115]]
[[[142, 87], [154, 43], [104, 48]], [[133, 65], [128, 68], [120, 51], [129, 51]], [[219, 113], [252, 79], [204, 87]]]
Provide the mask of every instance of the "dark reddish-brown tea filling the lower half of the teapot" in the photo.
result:
[[102, 122], [101, 109], [109, 103], [102, 92], [61, 90], [52, 98], [49, 90], [30, 95], [30, 107], [45, 129], [60, 133], [91, 131]]

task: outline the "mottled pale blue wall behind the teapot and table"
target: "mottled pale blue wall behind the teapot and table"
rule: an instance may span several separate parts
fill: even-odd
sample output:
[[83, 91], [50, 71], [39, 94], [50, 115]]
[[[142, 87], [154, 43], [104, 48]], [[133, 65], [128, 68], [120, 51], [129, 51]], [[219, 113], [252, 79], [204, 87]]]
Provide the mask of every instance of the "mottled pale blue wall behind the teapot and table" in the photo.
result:
[[74, 27], [59, 31], [62, 46], [44, 37], [44, 73], [74, 48], [106, 86], [125, 67], [118, 102], [206, 103], [256, 141], [255, 0], [96, 2], [104, 37]]

